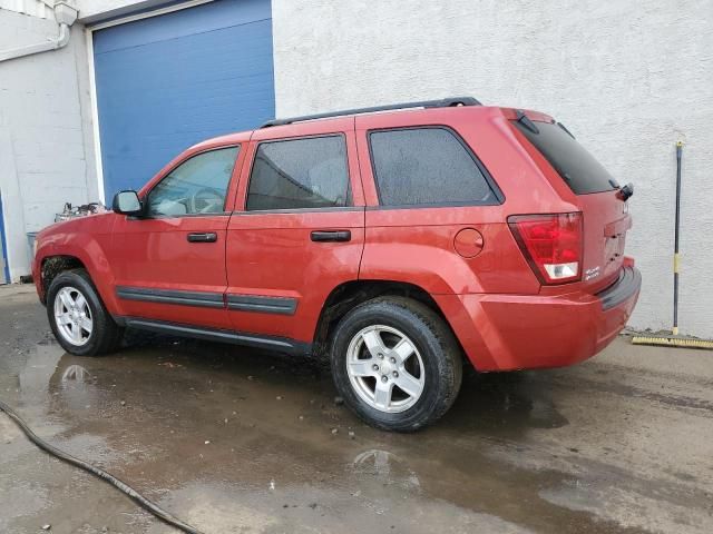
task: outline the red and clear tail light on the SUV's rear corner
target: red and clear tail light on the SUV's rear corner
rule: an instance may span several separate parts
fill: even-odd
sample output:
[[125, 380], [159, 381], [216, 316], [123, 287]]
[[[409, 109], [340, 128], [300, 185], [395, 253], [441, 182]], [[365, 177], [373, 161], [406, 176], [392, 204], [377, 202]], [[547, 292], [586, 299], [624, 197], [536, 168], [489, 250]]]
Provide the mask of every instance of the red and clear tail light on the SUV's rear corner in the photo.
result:
[[582, 212], [514, 215], [508, 225], [543, 284], [582, 278]]

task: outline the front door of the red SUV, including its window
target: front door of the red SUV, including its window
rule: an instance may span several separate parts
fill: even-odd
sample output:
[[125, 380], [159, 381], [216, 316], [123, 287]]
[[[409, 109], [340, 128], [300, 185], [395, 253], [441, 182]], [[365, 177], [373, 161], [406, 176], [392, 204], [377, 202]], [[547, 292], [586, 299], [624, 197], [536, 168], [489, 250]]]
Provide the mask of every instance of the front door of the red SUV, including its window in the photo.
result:
[[143, 217], [116, 221], [109, 261], [123, 315], [229, 326], [225, 238], [238, 151], [235, 146], [191, 156], [144, 196]]

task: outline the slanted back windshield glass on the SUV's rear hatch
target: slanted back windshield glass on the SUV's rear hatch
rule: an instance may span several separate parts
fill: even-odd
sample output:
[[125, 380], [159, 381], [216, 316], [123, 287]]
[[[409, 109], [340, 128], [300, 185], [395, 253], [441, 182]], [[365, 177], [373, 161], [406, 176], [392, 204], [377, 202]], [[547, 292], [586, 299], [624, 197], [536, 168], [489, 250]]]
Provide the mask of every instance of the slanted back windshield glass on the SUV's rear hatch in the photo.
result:
[[536, 134], [521, 121], [514, 122], [564, 178], [575, 195], [618, 188], [616, 180], [602, 164], [561, 126], [556, 122], [529, 122], [539, 130]]

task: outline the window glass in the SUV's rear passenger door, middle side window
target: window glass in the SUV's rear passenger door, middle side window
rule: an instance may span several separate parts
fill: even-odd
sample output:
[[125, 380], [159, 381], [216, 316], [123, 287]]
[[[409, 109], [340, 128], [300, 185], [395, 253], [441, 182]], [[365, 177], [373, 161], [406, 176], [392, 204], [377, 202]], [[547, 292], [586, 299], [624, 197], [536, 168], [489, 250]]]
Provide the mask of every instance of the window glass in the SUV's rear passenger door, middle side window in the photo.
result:
[[261, 142], [247, 210], [332, 208], [351, 204], [342, 136]]

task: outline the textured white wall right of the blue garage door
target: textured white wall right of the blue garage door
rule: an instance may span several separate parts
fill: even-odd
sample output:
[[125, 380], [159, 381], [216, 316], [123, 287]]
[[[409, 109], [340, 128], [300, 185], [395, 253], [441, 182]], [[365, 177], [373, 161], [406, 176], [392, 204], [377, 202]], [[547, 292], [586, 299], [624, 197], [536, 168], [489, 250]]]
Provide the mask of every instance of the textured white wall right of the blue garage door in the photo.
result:
[[680, 324], [713, 336], [711, 0], [273, 0], [279, 116], [472, 95], [554, 115], [622, 182], [644, 287], [672, 315], [675, 151], [684, 154]]

